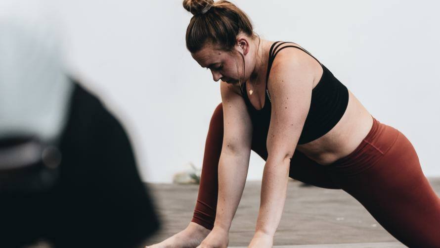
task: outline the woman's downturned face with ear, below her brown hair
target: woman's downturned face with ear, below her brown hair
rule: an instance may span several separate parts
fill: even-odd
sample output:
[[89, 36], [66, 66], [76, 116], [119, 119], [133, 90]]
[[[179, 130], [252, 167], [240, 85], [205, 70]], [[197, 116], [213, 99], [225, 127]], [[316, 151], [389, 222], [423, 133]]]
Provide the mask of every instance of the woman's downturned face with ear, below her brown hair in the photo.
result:
[[[212, 44], [205, 45], [201, 50], [191, 53], [191, 56], [200, 64], [200, 66], [210, 69], [213, 74], [214, 81], [225, 81], [229, 84], [237, 84], [240, 79], [241, 82], [247, 80], [250, 75], [243, 75], [243, 59], [248, 61], [246, 55], [243, 55], [242, 47], [238, 44], [234, 47], [234, 51], [224, 51], [217, 49]], [[245, 72], [249, 72], [246, 69]]]

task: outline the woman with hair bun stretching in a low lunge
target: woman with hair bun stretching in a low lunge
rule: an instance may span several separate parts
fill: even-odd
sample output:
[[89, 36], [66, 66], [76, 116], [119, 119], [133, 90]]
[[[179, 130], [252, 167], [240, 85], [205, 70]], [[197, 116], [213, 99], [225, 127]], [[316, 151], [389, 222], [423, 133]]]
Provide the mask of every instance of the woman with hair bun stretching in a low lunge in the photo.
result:
[[406, 246], [440, 247], [440, 198], [400, 131], [373, 118], [298, 44], [256, 36], [232, 3], [183, 6], [194, 14], [187, 49], [221, 80], [222, 103], [210, 123], [192, 222], [153, 247], [226, 247], [251, 149], [266, 163], [249, 247], [272, 246], [289, 176], [346, 191]]

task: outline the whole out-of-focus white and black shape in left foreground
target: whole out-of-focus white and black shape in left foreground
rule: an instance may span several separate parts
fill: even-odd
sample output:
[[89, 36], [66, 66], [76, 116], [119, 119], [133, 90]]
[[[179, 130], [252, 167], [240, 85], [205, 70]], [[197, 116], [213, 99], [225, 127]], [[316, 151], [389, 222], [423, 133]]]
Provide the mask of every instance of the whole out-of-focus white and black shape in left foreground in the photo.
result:
[[66, 75], [43, 2], [0, 3], [0, 247], [136, 247], [159, 220], [131, 142]]

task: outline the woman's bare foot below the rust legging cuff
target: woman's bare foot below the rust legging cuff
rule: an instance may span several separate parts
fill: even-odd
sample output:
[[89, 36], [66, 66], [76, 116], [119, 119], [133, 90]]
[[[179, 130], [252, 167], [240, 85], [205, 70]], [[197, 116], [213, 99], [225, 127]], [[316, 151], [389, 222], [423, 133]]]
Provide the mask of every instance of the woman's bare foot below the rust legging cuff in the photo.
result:
[[208, 236], [211, 230], [190, 222], [181, 232], [176, 233], [161, 243], [147, 246], [145, 248], [195, 248]]

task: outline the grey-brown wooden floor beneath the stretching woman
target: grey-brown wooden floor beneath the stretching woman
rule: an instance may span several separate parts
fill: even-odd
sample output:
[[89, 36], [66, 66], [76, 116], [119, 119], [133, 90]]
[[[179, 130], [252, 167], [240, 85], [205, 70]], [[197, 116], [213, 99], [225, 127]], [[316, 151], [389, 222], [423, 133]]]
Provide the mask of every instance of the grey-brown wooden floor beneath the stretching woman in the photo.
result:
[[[429, 178], [440, 196], [440, 178]], [[145, 245], [160, 242], [191, 221], [198, 185], [146, 184], [155, 199], [162, 229]], [[232, 222], [229, 247], [247, 247], [260, 206], [261, 182], [246, 183]], [[397, 248], [398, 243], [367, 210], [342, 190], [304, 185], [290, 180], [274, 246], [282, 248]]]

